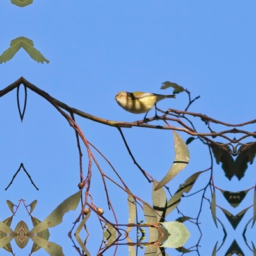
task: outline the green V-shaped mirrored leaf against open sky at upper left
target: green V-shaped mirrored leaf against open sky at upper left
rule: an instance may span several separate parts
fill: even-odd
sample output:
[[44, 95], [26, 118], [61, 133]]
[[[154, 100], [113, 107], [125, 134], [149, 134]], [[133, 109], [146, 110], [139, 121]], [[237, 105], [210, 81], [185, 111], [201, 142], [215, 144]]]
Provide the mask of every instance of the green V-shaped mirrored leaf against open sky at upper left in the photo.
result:
[[36, 50], [33, 44], [33, 41], [24, 37], [20, 36], [15, 38], [11, 41], [10, 48], [3, 52], [0, 56], [0, 64], [6, 63], [7, 61], [11, 60], [13, 56], [19, 51], [19, 49], [23, 47], [23, 49], [28, 52], [29, 56], [37, 61], [38, 63], [49, 63], [49, 60], [46, 60], [44, 56], [40, 53], [40, 51]]

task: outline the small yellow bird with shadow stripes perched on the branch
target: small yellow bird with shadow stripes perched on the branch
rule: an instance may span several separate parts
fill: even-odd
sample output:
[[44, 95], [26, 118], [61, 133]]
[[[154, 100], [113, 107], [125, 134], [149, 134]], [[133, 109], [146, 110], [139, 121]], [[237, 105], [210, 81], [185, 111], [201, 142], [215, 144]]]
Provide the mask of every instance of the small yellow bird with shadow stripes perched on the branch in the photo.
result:
[[175, 98], [175, 95], [161, 95], [148, 92], [118, 92], [115, 100], [119, 106], [128, 112], [134, 114], [146, 113], [145, 119], [148, 111], [154, 108], [154, 106], [156, 107], [156, 102], [166, 98]]

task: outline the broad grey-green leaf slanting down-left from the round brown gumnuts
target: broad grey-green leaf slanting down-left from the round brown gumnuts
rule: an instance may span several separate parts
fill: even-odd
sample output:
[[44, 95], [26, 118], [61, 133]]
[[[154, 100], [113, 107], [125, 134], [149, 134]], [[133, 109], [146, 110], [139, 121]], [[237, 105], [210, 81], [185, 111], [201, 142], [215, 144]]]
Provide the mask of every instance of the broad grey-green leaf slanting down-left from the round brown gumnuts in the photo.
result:
[[44, 221], [36, 225], [36, 227], [34, 227], [30, 233], [38, 234], [45, 229], [55, 227], [56, 225], [60, 224], [65, 212], [76, 210], [76, 207], [79, 204], [80, 196], [81, 190], [79, 190], [76, 194], [69, 196], [54, 211], [52, 211], [52, 213]]

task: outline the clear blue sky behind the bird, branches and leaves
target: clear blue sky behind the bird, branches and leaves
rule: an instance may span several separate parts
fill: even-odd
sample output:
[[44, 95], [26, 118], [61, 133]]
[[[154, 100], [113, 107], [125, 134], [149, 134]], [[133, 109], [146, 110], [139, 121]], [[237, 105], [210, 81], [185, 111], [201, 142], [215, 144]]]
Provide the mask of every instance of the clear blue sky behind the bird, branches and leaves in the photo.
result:
[[[24, 8], [19, 8], [8, 0], [1, 1], [0, 53], [9, 47], [14, 38], [26, 36], [33, 40], [36, 49], [50, 63], [38, 64], [21, 49], [12, 60], [0, 65], [0, 87], [2, 90], [23, 76], [68, 106], [100, 118], [132, 122], [141, 120], [143, 115], [125, 112], [116, 104], [115, 94], [121, 90], [170, 94], [172, 90], [162, 91], [160, 87], [164, 81], [172, 81], [187, 88], [192, 97], [201, 96], [189, 111], [203, 113], [231, 124], [246, 122], [255, 118], [255, 8], [255, 1], [57, 3], [45, 0], [34, 1]], [[171, 107], [184, 110], [187, 104], [187, 95], [180, 93], [177, 99], [163, 100], [157, 106], [161, 109]], [[6, 199], [17, 204], [23, 198], [28, 204], [38, 200], [34, 214], [43, 220], [56, 205], [77, 191], [79, 158], [74, 131], [56, 109], [31, 91], [28, 92], [28, 104], [22, 123], [17, 110], [16, 92], [4, 96], [0, 100], [0, 108], [0, 219], [10, 216], [7, 206], [4, 207]], [[151, 111], [149, 116], [153, 115], [154, 112]], [[86, 138], [108, 157], [132, 192], [150, 202], [151, 185], [147, 184], [132, 163], [118, 131], [84, 118], [77, 117], [76, 120]], [[200, 120], [191, 120], [195, 122], [198, 131], [207, 131]], [[154, 124], [164, 125], [161, 121]], [[255, 127], [251, 126], [248, 125], [246, 129], [255, 131]], [[212, 129], [222, 131], [225, 127], [213, 125]], [[173, 162], [172, 132], [136, 127], [123, 129], [123, 132], [143, 169], [161, 180]], [[184, 140], [188, 138], [188, 134], [179, 134]], [[230, 138], [233, 137], [231, 134]], [[189, 150], [191, 163], [168, 184], [172, 193], [192, 173], [209, 168], [207, 147], [199, 141], [193, 141]], [[84, 147], [83, 154], [86, 173]], [[99, 155], [96, 156], [104, 172], [115, 177]], [[20, 163], [24, 163], [39, 191], [31, 186], [22, 172], [17, 175], [8, 191], [4, 191]], [[255, 185], [254, 169], [250, 166], [246, 176], [238, 182], [236, 178], [227, 180], [220, 166], [215, 165], [214, 182], [219, 188], [234, 192], [251, 188]], [[209, 173], [202, 175], [193, 191], [203, 188], [208, 179]], [[113, 220], [107, 210], [106, 196], [95, 165], [91, 186], [93, 200], [106, 209], [106, 218]], [[121, 193], [111, 183], [108, 186], [120, 223], [127, 223], [125, 193]], [[199, 200], [200, 196], [194, 200], [189, 198], [188, 203], [180, 204], [180, 208], [186, 214], [195, 216], [198, 208], [191, 210], [191, 207], [199, 203]], [[241, 208], [232, 211], [234, 215], [253, 204], [253, 191], [250, 191], [248, 198], [246, 196], [246, 200]], [[217, 204], [228, 211], [232, 210], [219, 193]], [[207, 201], [204, 201], [203, 210], [201, 222], [204, 236], [200, 253], [209, 255], [223, 234], [214, 227]], [[20, 215], [17, 214], [15, 221], [22, 219], [29, 223], [26, 211], [19, 211]], [[70, 240], [63, 234], [70, 230], [78, 214], [79, 211], [69, 212], [64, 218], [65, 223], [50, 230], [49, 240], [61, 244], [65, 255], [76, 253]], [[225, 220], [221, 212], [217, 211], [217, 214]], [[252, 209], [247, 214], [245, 217], [249, 220]], [[173, 212], [168, 218], [169, 221], [175, 220], [177, 214]], [[207, 225], [204, 226], [204, 223]], [[243, 220], [236, 232], [244, 253], [246, 246], [240, 235], [245, 223]], [[95, 255], [102, 237], [95, 216], [88, 227], [93, 229], [88, 248]], [[191, 234], [195, 233], [191, 235], [186, 247], [193, 246], [198, 241], [195, 227], [188, 225], [188, 228]], [[234, 239], [229, 223], [227, 231], [227, 243], [220, 255], [224, 255], [230, 245], [228, 243]], [[13, 242], [12, 245], [13, 251], [19, 255], [28, 255], [30, 251], [26, 247], [20, 253]], [[125, 255], [127, 248], [120, 248], [118, 252], [121, 253], [118, 255]], [[179, 255], [175, 251], [169, 252]], [[1, 253], [9, 255], [3, 249]], [[43, 250], [36, 253], [46, 255]], [[110, 250], [109, 255], [113, 255], [113, 251]]]

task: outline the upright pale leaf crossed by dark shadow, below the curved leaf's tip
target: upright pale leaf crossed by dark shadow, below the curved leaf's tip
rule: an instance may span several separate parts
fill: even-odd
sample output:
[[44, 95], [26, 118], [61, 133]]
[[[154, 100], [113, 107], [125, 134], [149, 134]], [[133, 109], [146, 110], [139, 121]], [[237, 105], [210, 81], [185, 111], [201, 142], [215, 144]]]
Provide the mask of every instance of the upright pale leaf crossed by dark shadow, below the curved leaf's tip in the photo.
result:
[[157, 221], [161, 221], [165, 217], [166, 205], [167, 205], [167, 196], [163, 188], [155, 190], [158, 182], [154, 180], [152, 188], [152, 202], [154, 210], [159, 214], [157, 216]]

